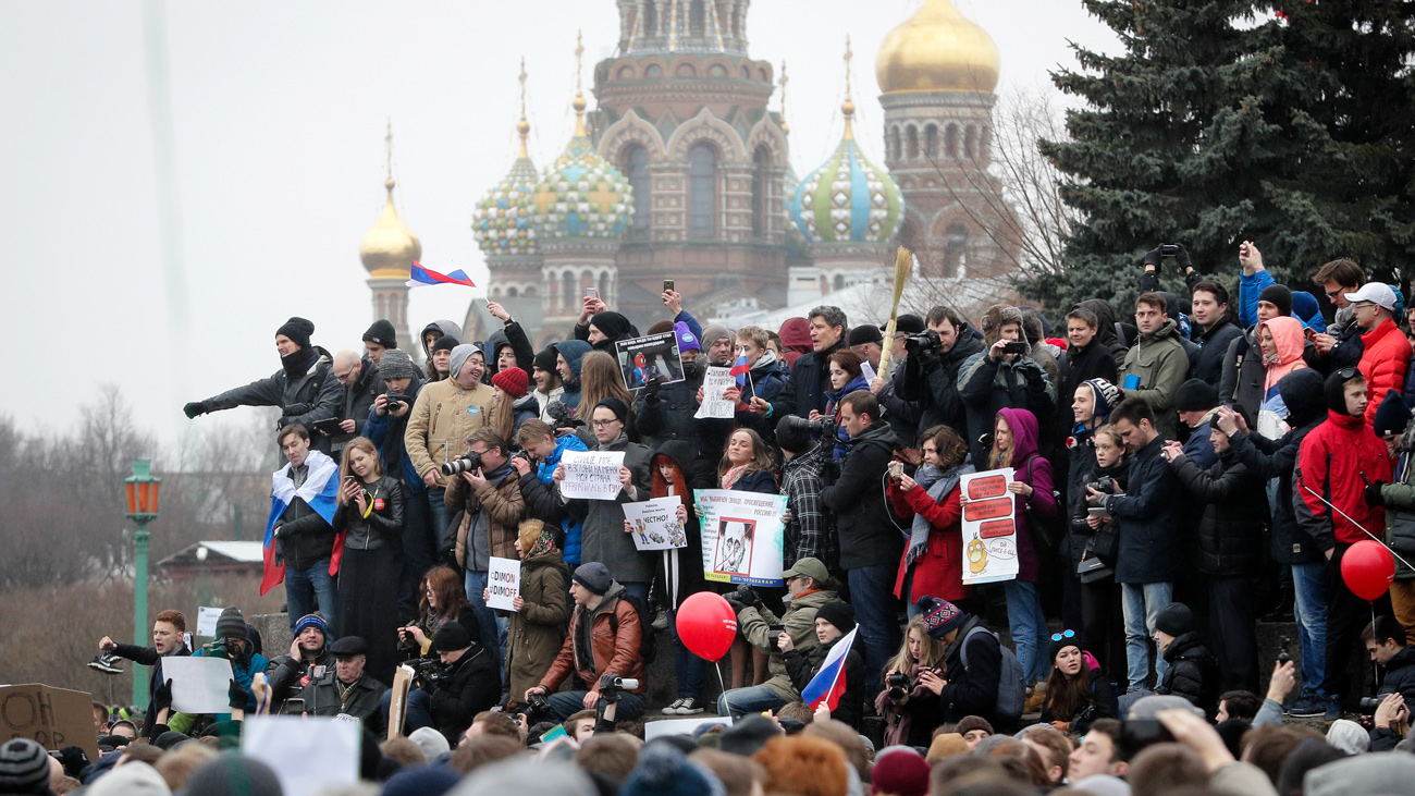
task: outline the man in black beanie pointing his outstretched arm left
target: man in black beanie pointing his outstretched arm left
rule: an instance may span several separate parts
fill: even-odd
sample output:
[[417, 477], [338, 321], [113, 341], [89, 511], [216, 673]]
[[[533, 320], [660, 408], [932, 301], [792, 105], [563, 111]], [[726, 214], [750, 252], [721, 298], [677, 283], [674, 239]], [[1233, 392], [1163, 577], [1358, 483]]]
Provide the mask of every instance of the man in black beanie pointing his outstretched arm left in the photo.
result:
[[[334, 378], [330, 353], [310, 344], [314, 324], [303, 317], [291, 317], [275, 331], [275, 348], [280, 353], [280, 370], [267, 378], [221, 395], [194, 401], [183, 406], [187, 418], [231, 409], [235, 406], [280, 406], [276, 428], [303, 425], [313, 428], [340, 414], [344, 388]], [[314, 449], [330, 452], [330, 439], [316, 435]]]

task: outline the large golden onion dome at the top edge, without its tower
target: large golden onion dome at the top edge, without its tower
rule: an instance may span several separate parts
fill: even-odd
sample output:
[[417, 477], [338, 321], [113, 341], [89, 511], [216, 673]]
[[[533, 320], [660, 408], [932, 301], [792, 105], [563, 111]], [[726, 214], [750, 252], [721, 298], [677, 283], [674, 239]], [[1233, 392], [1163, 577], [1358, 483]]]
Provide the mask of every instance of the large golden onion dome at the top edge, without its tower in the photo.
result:
[[884, 93], [990, 93], [1000, 71], [992, 37], [951, 0], [924, 0], [913, 17], [884, 37], [874, 59], [874, 76]]

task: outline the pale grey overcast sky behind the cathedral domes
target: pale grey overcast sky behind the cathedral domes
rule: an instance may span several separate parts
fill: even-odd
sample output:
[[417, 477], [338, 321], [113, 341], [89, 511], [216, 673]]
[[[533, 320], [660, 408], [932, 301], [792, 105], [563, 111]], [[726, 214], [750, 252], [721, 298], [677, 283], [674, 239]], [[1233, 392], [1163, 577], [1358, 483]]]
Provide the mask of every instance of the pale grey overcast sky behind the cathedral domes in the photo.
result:
[[[751, 55], [788, 64], [798, 173], [839, 140], [846, 34], [856, 129], [883, 160], [874, 54], [920, 1], [753, 3]], [[1047, 71], [1074, 64], [1068, 41], [1115, 47], [1078, 0], [955, 3], [996, 40], [1003, 93], [1053, 91]], [[175, 296], [163, 269], [149, 8], [166, 25], [173, 251], [185, 282]], [[372, 320], [358, 244], [383, 204], [389, 118], [398, 210], [423, 262], [456, 262], [481, 283], [471, 210], [514, 157], [519, 58], [532, 156], [545, 166], [573, 127], [576, 28], [589, 88], [590, 62], [618, 41], [613, 0], [0, 3], [0, 317], [13, 347], [41, 353], [35, 373], [6, 365], [0, 412], [68, 428], [108, 381], [139, 422], [175, 440], [188, 428], [183, 402], [279, 367], [273, 334], [286, 317], [313, 320], [331, 351], [357, 347]], [[460, 289], [423, 288], [410, 317], [460, 320], [466, 306]], [[168, 329], [170, 316], [185, 323]]]

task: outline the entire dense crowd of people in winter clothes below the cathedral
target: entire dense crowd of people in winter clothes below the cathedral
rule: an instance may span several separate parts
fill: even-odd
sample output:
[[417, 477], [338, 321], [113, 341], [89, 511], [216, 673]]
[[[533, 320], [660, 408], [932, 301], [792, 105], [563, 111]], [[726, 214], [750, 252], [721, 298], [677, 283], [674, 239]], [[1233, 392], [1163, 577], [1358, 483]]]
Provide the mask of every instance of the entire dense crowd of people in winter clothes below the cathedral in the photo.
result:
[[[266, 660], [235, 608], [195, 652], [173, 610], [153, 647], [103, 639], [153, 666], [132, 735], [174, 789], [164, 761], [256, 711], [342, 714], [371, 738], [393, 722], [364, 758], [385, 793], [1405, 793], [1415, 758], [1382, 752], [1415, 698], [1415, 569], [1374, 603], [1341, 575], [1364, 540], [1415, 555], [1404, 299], [1337, 259], [1312, 279], [1324, 317], [1257, 245], [1238, 269], [1234, 295], [1156, 248], [1133, 306], [937, 306], [893, 337], [828, 305], [777, 331], [705, 327], [666, 289], [644, 334], [675, 336], [683, 378], [637, 390], [616, 344], [641, 333], [596, 296], [539, 351], [495, 302], [485, 341], [430, 323], [423, 365], [386, 320], [330, 356], [293, 317], [280, 371], [185, 411], [282, 409], [269, 564], [294, 640]], [[708, 368], [733, 365], [746, 378], [705, 397]], [[733, 416], [699, 418], [708, 398]], [[586, 450], [623, 453], [614, 500], [565, 494], [562, 457]], [[961, 484], [988, 470], [1009, 473], [1017, 574], [969, 586]], [[705, 579], [703, 489], [785, 497], [782, 586]], [[652, 499], [676, 501], [686, 547], [635, 547], [624, 506]], [[491, 558], [521, 561], [514, 610], [488, 605]], [[678, 637], [703, 591], [737, 620], [720, 691]], [[1298, 660], [1283, 647], [1259, 697], [1264, 615], [1296, 623]], [[655, 712], [734, 722], [642, 744], [659, 633]], [[232, 714], [171, 711], [174, 654], [232, 661]], [[1351, 677], [1358, 656], [1375, 681]], [[416, 676], [395, 701], [399, 664]], [[843, 687], [812, 708], [825, 666]], [[153, 762], [126, 749], [92, 766]], [[228, 755], [187, 765], [259, 765]]]

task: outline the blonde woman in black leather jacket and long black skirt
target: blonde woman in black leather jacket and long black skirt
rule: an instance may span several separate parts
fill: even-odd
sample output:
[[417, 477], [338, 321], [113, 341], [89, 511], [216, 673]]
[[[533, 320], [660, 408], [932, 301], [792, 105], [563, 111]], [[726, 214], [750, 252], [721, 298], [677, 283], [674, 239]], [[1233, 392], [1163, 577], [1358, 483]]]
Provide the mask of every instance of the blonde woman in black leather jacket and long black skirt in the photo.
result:
[[368, 642], [365, 670], [393, 681], [398, 666], [398, 581], [403, 572], [403, 484], [383, 474], [378, 449], [366, 436], [354, 438], [340, 466], [338, 508], [334, 510], [334, 555], [340, 584], [334, 596], [334, 637]]

